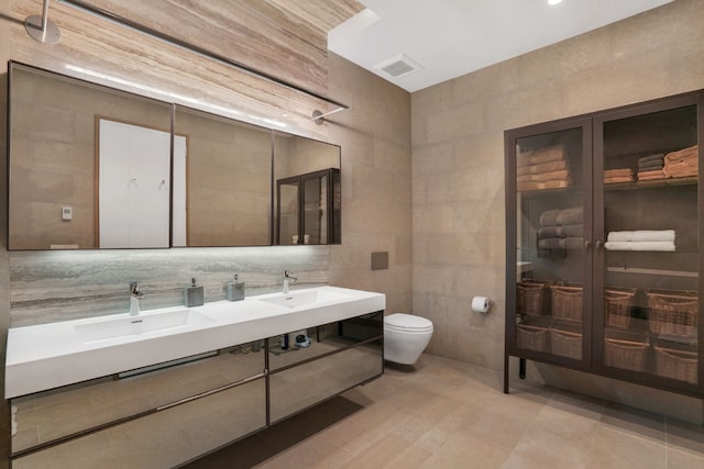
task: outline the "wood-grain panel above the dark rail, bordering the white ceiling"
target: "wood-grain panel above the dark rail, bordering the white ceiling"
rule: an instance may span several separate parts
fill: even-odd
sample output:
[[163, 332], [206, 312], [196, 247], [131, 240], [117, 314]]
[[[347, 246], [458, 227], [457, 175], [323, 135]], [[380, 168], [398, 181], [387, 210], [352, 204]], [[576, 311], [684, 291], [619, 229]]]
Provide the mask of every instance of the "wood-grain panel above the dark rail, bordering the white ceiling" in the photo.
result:
[[356, 0], [84, 2], [319, 94], [328, 31], [364, 9]]

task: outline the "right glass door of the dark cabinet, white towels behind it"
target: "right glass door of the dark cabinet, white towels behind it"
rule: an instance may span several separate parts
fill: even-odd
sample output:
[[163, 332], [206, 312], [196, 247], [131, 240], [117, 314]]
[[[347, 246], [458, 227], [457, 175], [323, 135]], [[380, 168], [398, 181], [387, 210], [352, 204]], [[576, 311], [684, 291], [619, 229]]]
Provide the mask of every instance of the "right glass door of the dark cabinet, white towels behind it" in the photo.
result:
[[594, 124], [595, 367], [680, 389], [701, 379], [697, 112], [682, 98]]

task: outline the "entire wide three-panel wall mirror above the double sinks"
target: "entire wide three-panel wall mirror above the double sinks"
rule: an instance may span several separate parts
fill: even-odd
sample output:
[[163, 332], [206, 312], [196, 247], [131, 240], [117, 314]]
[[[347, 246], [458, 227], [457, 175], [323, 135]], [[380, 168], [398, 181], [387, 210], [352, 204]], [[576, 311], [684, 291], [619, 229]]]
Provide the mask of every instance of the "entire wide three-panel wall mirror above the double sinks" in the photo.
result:
[[19, 249], [340, 243], [340, 147], [10, 64]]

